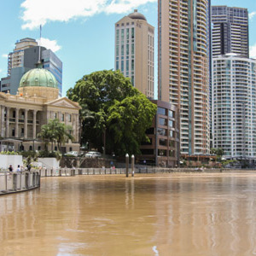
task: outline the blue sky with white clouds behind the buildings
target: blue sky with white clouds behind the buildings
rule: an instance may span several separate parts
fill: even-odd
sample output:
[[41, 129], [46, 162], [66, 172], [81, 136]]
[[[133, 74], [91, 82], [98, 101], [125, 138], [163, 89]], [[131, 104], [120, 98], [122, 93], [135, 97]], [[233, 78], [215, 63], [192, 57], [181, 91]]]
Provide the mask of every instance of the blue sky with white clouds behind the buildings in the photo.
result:
[[[212, 5], [248, 9], [251, 57], [256, 58], [256, 0], [212, 0]], [[0, 6], [0, 77], [6, 76], [7, 55], [15, 42], [26, 37], [38, 39], [42, 24], [42, 45], [54, 50], [63, 62], [62, 96], [66, 96], [84, 74], [113, 69], [114, 23], [133, 9], [155, 27], [157, 60], [157, 0], [2, 0]]]

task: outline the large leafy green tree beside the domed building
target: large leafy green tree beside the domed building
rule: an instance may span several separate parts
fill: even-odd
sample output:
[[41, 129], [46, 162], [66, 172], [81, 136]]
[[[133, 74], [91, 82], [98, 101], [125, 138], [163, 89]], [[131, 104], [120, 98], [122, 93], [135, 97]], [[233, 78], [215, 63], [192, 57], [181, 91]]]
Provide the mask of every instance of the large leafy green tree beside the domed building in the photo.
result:
[[119, 71], [91, 73], [69, 89], [67, 96], [82, 107], [82, 143], [101, 149], [105, 137], [108, 153], [139, 152], [156, 106], [132, 86], [130, 79]]

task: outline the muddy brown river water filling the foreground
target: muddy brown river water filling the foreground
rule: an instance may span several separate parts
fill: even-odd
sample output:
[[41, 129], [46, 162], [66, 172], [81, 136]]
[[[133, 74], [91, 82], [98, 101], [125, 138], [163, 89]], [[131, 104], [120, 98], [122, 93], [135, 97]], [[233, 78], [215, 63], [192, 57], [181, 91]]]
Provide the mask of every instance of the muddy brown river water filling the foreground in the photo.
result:
[[42, 178], [0, 196], [0, 255], [256, 255], [256, 172]]

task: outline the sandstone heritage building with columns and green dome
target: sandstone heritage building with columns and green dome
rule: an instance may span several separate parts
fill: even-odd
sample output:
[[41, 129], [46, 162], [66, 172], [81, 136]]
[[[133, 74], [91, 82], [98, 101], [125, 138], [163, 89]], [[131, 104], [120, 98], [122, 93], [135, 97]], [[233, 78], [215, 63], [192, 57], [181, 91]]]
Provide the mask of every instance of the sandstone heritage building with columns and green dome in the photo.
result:
[[73, 127], [75, 138], [61, 150], [79, 151], [79, 103], [58, 95], [55, 76], [44, 68], [26, 72], [16, 95], [0, 92], [0, 150], [44, 150], [44, 142], [38, 137], [41, 126], [49, 119], [59, 119]]

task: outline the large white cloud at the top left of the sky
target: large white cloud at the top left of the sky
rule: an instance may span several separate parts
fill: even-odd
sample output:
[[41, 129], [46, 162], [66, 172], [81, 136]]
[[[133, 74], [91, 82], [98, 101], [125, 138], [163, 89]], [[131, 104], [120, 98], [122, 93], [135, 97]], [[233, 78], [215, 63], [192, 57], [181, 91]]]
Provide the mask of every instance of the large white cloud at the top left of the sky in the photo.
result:
[[23, 29], [44, 26], [49, 21], [69, 21], [79, 17], [90, 17], [99, 13], [126, 14], [145, 3], [157, 0], [44, 0], [38, 7], [37, 0], [24, 0], [21, 19]]

